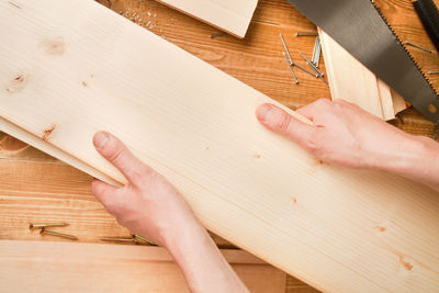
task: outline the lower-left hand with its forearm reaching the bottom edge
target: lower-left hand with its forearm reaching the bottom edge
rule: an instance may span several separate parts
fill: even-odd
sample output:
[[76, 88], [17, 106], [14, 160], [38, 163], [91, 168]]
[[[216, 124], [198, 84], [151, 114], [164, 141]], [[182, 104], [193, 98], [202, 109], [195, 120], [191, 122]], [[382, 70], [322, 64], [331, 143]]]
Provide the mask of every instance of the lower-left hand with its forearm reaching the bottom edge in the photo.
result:
[[97, 133], [93, 144], [128, 181], [116, 188], [95, 179], [91, 185], [92, 193], [122, 226], [166, 247], [191, 292], [248, 292], [183, 198], [162, 176], [109, 133]]

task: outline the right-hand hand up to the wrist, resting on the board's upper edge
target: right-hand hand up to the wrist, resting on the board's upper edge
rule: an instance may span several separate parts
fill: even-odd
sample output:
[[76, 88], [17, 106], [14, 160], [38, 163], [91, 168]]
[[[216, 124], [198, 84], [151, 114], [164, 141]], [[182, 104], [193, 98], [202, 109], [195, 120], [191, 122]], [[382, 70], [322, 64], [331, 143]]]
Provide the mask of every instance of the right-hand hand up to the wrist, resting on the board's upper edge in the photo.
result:
[[[296, 111], [314, 124], [292, 117], [271, 104], [257, 110], [258, 120], [328, 164], [354, 168], [392, 168], [415, 149], [415, 138], [344, 100], [317, 100]], [[423, 139], [423, 138], [419, 138]], [[397, 164], [397, 162], [395, 162]], [[396, 167], [395, 167], [396, 168]]]

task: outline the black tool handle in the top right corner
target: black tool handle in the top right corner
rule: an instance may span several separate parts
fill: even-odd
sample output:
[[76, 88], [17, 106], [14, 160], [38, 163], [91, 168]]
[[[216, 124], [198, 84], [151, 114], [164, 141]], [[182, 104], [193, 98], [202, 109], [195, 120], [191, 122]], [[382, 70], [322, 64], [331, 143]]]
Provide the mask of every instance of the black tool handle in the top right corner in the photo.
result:
[[439, 10], [432, 0], [416, 0], [413, 2], [425, 30], [439, 52]]

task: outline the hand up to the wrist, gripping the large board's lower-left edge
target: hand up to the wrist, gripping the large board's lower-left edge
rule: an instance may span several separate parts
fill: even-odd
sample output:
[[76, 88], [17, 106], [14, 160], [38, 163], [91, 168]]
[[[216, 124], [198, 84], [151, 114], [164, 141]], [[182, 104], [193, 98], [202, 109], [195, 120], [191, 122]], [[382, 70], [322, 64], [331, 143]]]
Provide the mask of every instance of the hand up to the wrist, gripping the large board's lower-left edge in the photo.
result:
[[115, 136], [99, 132], [97, 150], [127, 179], [116, 188], [94, 179], [91, 192], [131, 232], [168, 247], [178, 230], [200, 225], [180, 193], [159, 173], [143, 164]]

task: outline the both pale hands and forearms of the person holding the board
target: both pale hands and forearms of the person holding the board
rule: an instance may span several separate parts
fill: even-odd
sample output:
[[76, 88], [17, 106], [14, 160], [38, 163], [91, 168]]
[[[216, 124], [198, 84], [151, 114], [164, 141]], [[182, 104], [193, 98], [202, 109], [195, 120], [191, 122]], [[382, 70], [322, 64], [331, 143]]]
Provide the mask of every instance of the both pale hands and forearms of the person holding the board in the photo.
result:
[[[256, 116], [329, 165], [384, 170], [439, 190], [439, 145], [432, 139], [406, 134], [341, 100], [318, 100], [296, 112], [313, 124], [272, 104], [260, 105]], [[192, 292], [248, 292], [178, 190], [113, 135], [99, 132], [93, 144], [128, 181], [122, 188], [99, 180], [91, 185], [121, 225], [166, 247]]]

